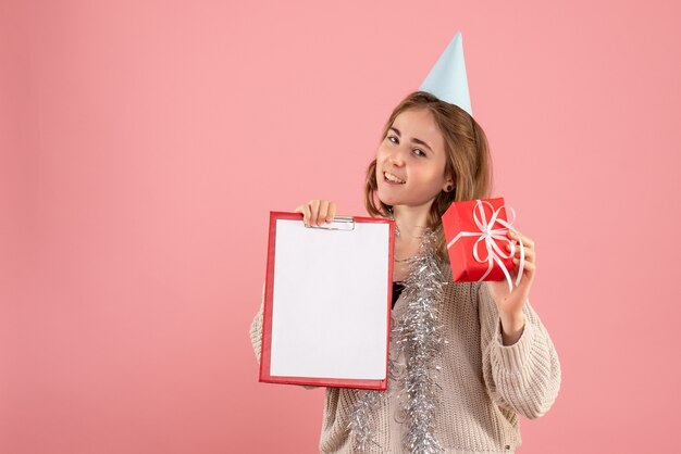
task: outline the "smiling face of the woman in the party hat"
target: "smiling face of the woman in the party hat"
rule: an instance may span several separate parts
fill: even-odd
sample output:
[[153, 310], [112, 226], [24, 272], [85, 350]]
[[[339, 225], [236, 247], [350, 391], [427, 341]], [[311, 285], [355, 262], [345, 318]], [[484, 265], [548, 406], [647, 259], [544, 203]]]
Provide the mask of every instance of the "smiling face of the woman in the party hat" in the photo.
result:
[[[379, 199], [387, 205], [430, 203], [451, 178], [445, 178], [445, 141], [426, 109], [400, 113], [376, 153]], [[404, 182], [392, 182], [386, 173]]]

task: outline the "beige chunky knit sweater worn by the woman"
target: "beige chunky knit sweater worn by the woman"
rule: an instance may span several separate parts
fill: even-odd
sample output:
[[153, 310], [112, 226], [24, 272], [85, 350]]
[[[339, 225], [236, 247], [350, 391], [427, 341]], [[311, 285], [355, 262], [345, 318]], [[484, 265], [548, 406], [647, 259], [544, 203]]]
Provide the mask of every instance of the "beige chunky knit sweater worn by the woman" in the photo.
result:
[[[404, 314], [403, 295], [393, 310], [393, 326]], [[548, 332], [528, 302], [522, 336], [515, 344], [503, 345], [497, 308], [484, 282], [448, 282], [438, 310], [448, 343], [439, 358], [436, 439], [449, 454], [515, 452], [522, 442], [517, 415], [530, 419], [544, 415], [560, 388], [560, 363]], [[262, 304], [250, 326], [258, 361], [261, 338]], [[391, 358], [405, 363], [395, 357], [392, 340], [389, 350]], [[395, 386], [388, 379], [388, 390]], [[387, 394], [372, 418], [374, 439], [382, 446], [373, 447], [372, 454], [405, 453], [406, 425], [397, 423], [399, 405]], [[326, 388], [321, 453], [354, 452], [347, 426], [357, 398], [356, 390]]]

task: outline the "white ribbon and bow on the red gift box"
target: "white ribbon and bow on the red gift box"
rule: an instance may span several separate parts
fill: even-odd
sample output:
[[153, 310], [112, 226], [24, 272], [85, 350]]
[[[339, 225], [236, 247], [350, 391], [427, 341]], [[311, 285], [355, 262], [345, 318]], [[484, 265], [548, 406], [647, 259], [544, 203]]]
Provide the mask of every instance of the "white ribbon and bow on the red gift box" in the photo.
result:
[[[478, 241], [475, 241], [475, 244], [473, 245], [473, 257], [480, 263], [487, 262], [490, 266], [487, 267], [487, 272], [480, 279], [478, 279], [478, 281], [482, 281], [485, 279], [485, 277], [487, 277], [487, 275], [492, 272], [492, 268], [494, 268], [494, 263], [496, 262], [497, 265], [499, 265], [499, 267], [504, 272], [504, 275], [506, 276], [506, 281], [508, 282], [508, 291], [511, 292], [513, 291], [512, 279], [510, 277], [510, 274], [508, 273], [508, 269], [506, 268], [506, 266], [504, 266], [504, 262], [502, 261], [502, 258], [508, 258], [508, 257], [515, 256], [516, 245], [513, 244], [511, 240], [509, 240], [506, 237], [507, 231], [509, 230], [513, 231], [520, 243], [520, 267], [518, 269], [518, 276], [516, 276], [516, 287], [518, 287], [518, 285], [520, 283], [520, 279], [522, 278], [522, 270], [524, 268], [524, 262], [525, 262], [525, 251], [522, 244], [522, 239], [520, 238], [520, 235], [518, 235], [518, 230], [516, 230], [512, 227], [513, 223], [516, 222], [516, 211], [510, 206], [507, 209], [507, 211], [510, 210], [512, 214], [512, 220], [506, 222], [500, 218], [497, 219], [499, 212], [506, 205], [503, 205], [495, 211], [492, 203], [487, 201], [476, 199], [475, 202], [478, 203], [475, 203], [475, 206], [473, 207], [473, 219], [475, 220], [478, 228], [480, 228], [480, 231], [460, 231], [459, 235], [457, 235], [451, 241], [449, 241], [449, 243], [447, 244], [447, 249], [451, 248], [451, 245], [455, 242], [457, 242], [459, 238], [480, 237], [478, 238]], [[486, 220], [485, 209], [484, 209], [483, 203], [486, 203], [492, 209], [493, 214], [492, 214], [492, 218], [490, 219], [490, 223], [487, 223]], [[480, 212], [481, 218], [478, 217], [476, 211]], [[498, 223], [506, 228], [497, 228], [497, 229], [492, 228], [494, 227], [495, 223]], [[497, 243], [494, 241], [495, 239], [502, 240], [502, 241], [506, 240], [509, 242], [511, 249], [508, 255], [504, 254], [504, 252], [499, 249]], [[487, 258], [485, 260], [481, 260], [478, 254], [478, 243], [482, 240], [485, 241], [485, 245], [487, 248]]]

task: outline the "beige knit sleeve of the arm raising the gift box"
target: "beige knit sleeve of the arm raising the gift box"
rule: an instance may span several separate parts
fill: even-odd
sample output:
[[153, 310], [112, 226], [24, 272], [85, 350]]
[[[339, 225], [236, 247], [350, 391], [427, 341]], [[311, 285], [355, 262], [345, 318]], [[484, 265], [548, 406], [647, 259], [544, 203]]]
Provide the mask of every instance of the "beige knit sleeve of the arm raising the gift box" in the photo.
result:
[[560, 362], [546, 328], [528, 300], [520, 339], [504, 345], [497, 306], [485, 282], [476, 294], [483, 377], [490, 395], [497, 405], [527, 418], [543, 416], [560, 389]]

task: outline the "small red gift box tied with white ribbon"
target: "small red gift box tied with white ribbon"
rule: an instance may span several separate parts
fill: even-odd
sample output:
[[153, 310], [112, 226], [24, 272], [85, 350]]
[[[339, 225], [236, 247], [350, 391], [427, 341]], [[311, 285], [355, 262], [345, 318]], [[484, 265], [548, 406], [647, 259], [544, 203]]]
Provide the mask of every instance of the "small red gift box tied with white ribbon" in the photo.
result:
[[[456, 282], [506, 280], [512, 290], [510, 270], [513, 269], [516, 244], [508, 238], [508, 230], [516, 231], [512, 224], [516, 212], [508, 207], [512, 218], [508, 220], [504, 198], [478, 199], [454, 202], [442, 216], [447, 240], [447, 251]], [[522, 277], [524, 249], [519, 237], [520, 267], [516, 286]], [[507, 244], [511, 249], [506, 248]]]

